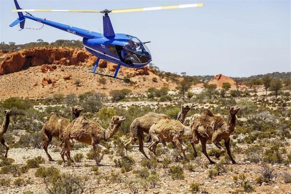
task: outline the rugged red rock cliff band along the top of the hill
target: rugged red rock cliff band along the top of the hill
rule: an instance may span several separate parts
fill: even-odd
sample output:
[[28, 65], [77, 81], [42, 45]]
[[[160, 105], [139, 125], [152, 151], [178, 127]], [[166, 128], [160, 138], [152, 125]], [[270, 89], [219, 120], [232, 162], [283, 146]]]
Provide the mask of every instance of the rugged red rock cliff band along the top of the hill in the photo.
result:
[[[56, 70], [56, 65], [59, 67], [62, 65], [93, 66], [97, 59], [85, 49], [68, 47], [35, 47], [8, 53], [5, 57], [0, 62], [0, 75], [14, 73], [30, 66], [41, 66], [40, 70], [42, 73], [47, 73], [48, 70]], [[100, 60], [98, 66], [100, 68], [107, 68], [112, 72], [117, 67], [116, 64], [104, 60]], [[60, 69], [64, 71], [62, 68]], [[155, 73], [147, 66], [140, 69], [122, 67], [120, 70], [129, 77], [149, 75], [149, 72]]]

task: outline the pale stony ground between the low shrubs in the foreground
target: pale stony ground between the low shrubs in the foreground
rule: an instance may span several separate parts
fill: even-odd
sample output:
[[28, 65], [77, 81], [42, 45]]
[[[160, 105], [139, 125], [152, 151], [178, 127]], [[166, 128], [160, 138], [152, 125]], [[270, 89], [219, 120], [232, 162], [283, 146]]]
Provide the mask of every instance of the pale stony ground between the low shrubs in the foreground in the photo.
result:
[[[247, 145], [240, 144], [240, 147], [247, 147]], [[207, 145], [208, 149], [214, 148], [213, 144]], [[61, 156], [59, 152], [53, 152], [53, 147], [48, 149], [52, 158], [55, 160], [61, 160]], [[76, 153], [83, 153], [86, 156], [86, 153], [91, 149], [91, 146], [82, 148], [80, 150], [71, 151], [71, 155], [73, 156]], [[113, 151], [116, 148], [111, 148]], [[288, 148], [289, 149], [289, 148]], [[145, 148], [146, 150], [146, 148]], [[147, 150], [146, 150], [147, 152]], [[132, 151], [128, 152], [128, 155], [134, 158], [135, 164], [133, 165], [133, 169], [141, 169], [141, 160], [143, 155], [138, 150], [138, 145], [134, 145]], [[167, 154], [171, 157], [170, 154]], [[95, 175], [93, 171], [91, 171], [91, 167], [95, 165], [95, 161], [83, 159], [80, 163], [75, 163], [72, 166], [67, 165], [58, 165], [56, 161], [48, 161], [45, 151], [43, 149], [10, 149], [8, 153], [8, 157], [13, 158], [15, 160], [15, 164], [24, 165], [29, 158], [33, 158], [36, 156], [42, 156], [45, 158], [45, 163], [41, 164], [42, 166], [49, 167], [54, 166], [58, 168], [63, 173], [70, 173], [73, 175], [81, 176], [86, 179], [86, 188], [85, 193], [131, 193], [129, 189], [125, 186], [124, 183], [107, 183], [105, 180], [101, 180], [100, 184], [97, 183], [97, 176], [101, 175], [109, 175], [111, 172], [118, 173], [120, 172], [119, 167], [115, 167], [113, 163], [114, 158], [120, 158], [120, 156], [116, 156], [116, 154], [107, 154], [104, 156], [102, 163], [103, 167], [99, 167], [100, 175]], [[113, 157], [113, 158], [112, 158]], [[245, 173], [250, 180], [250, 183], [255, 186], [254, 193], [291, 193], [291, 184], [285, 184], [282, 182], [281, 178], [278, 177], [275, 179], [273, 184], [260, 186], [259, 184], [255, 184], [254, 180], [258, 177], [257, 169], [260, 168], [258, 164], [252, 164], [248, 161], [244, 161], [243, 154], [236, 154], [237, 164], [232, 165], [229, 164], [227, 167], [230, 169], [227, 173], [223, 173], [223, 175], [219, 175], [214, 177], [214, 179], [208, 178], [208, 170], [213, 169], [214, 165], [208, 165], [207, 168], [203, 167], [204, 163], [207, 163], [206, 157], [203, 155], [200, 159], [196, 159], [192, 161], [195, 166], [194, 172], [189, 172], [184, 169], [184, 180], [172, 180], [169, 173], [168, 168], [157, 167], [154, 170], [159, 174], [159, 184], [155, 188], [148, 188], [147, 191], [141, 189], [139, 193], [190, 193], [189, 184], [193, 181], [201, 184], [201, 188], [203, 191], [207, 191], [209, 193], [236, 193], [239, 189], [241, 190], [241, 185], [235, 184], [233, 181], [233, 176]], [[112, 158], [112, 159], [111, 159]], [[212, 157], [213, 160], [214, 157]], [[89, 164], [89, 166], [84, 167], [84, 164]], [[171, 165], [181, 165], [181, 163], [173, 162]], [[285, 165], [274, 165], [275, 172], [290, 172], [290, 166]], [[0, 193], [24, 193], [27, 191], [31, 191], [32, 193], [46, 193], [46, 184], [41, 178], [35, 177], [36, 169], [29, 169], [29, 171], [25, 174], [22, 174], [21, 177], [24, 179], [31, 178], [31, 183], [26, 184], [25, 186], [10, 186], [10, 187], [0, 187]], [[136, 175], [130, 172], [126, 172], [121, 174], [123, 180], [132, 179]], [[16, 177], [12, 175], [0, 175], [0, 178], [10, 178], [11, 180], [15, 180]]]

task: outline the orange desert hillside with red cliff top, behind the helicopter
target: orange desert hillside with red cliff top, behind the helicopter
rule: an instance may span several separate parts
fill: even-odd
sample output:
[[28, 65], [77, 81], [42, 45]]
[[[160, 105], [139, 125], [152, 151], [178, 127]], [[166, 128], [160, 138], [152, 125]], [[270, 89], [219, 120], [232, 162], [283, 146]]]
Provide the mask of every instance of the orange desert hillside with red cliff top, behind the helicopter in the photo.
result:
[[[175, 88], [176, 84], [159, 79], [147, 66], [141, 69], [120, 68], [119, 77], [129, 77], [129, 84], [105, 77], [105, 89], [92, 71], [96, 57], [81, 48], [36, 47], [0, 53], [0, 98], [13, 96], [46, 98], [51, 94], [84, 93], [95, 90], [108, 94], [112, 89], [131, 89], [144, 93], [149, 87]], [[1, 57], [0, 56], [0, 57]], [[113, 75], [116, 64], [100, 61], [97, 71]], [[153, 82], [153, 78], [157, 80]], [[79, 86], [75, 84], [80, 80]]]

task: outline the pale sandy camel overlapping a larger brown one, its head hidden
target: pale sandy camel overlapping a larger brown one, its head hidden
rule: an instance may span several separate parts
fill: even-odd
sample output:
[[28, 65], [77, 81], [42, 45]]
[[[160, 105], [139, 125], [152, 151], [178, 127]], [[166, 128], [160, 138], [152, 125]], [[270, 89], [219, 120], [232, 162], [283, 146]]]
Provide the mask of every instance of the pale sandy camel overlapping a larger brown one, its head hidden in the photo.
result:
[[185, 160], [189, 161], [185, 154], [186, 147], [183, 145], [185, 131], [190, 133], [191, 128], [184, 126], [177, 120], [161, 119], [150, 127], [149, 134], [152, 137], [152, 142], [148, 145], [148, 149], [156, 155], [155, 149], [160, 141], [165, 147], [166, 141], [172, 142], [176, 149], [178, 147], [181, 149]]

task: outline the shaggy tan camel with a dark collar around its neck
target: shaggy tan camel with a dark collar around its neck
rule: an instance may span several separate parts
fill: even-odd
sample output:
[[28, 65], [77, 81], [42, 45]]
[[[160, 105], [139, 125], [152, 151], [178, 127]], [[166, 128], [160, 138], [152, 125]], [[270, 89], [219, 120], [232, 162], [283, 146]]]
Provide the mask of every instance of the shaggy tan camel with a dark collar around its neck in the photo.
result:
[[[93, 146], [93, 155], [96, 161], [96, 165], [103, 166], [100, 164], [104, 154], [107, 151], [107, 148], [100, 145], [102, 140], [109, 140], [118, 130], [121, 123], [125, 120], [125, 117], [113, 116], [109, 127], [107, 129], [102, 128], [102, 126], [96, 122], [90, 121], [84, 116], [78, 117], [74, 120], [64, 131], [63, 138], [65, 145], [61, 151], [61, 156], [63, 162], [65, 163], [64, 154], [70, 159], [70, 149], [74, 145], [73, 139], [89, 144]], [[97, 158], [97, 147], [102, 150], [102, 155]], [[74, 161], [73, 161], [74, 162]]]

